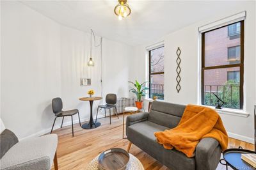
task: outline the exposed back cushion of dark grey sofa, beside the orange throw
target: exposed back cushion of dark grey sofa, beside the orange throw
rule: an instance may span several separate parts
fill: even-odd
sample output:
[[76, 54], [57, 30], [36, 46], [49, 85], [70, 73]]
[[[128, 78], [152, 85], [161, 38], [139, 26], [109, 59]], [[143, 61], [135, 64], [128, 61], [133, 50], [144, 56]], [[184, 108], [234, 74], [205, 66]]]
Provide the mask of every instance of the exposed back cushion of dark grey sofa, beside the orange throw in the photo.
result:
[[164, 127], [173, 128], [179, 124], [185, 108], [186, 105], [154, 101], [148, 120]]

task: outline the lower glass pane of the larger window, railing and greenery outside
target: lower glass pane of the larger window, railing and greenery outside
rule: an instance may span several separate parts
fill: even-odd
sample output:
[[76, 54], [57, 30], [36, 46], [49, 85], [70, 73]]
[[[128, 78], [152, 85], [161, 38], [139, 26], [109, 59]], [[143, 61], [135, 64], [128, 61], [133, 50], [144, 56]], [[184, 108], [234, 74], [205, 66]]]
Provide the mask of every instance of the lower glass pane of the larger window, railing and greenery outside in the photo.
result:
[[204, 71], [204, 104], [217, 105], [218, 95], [223, 107], [240, 108], [240, 68], [218, 68]]

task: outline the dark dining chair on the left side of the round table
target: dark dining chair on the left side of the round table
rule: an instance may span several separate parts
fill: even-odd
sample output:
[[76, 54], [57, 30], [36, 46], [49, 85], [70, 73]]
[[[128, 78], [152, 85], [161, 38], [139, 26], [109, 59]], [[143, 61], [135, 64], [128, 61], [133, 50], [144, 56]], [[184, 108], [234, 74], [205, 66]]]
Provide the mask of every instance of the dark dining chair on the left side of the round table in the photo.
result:
[[[80, 115], [79, 115], [79, 111], [77, 109], [74, 110], [70, 110], [70, 111], [62, 111], [63, 109], [63, 103], [60, 97], [57, 98], [53, 98], [52, 99], [52, 111], [54, 112], [56, 118], [58, 117], [62, 117], [62, 123], [61, 123], [61, 128], [63, 125], [63, 120], [65, 116], [71, 116], [71, 121], [72, 121], [72, 136], [74, 137], [74, 128], [73, 128], [73, 115], [78, 113], [78, 118], [79, 118], [79, 124], [81, 127], [81, 121], [80, 121]], [[56, 118], [54, 119], [53, 125], [52, 125], [52, 129], [54, 127], [54, 123], [56, 121]], [[51, 130], [52, 133], [52, 130]]]

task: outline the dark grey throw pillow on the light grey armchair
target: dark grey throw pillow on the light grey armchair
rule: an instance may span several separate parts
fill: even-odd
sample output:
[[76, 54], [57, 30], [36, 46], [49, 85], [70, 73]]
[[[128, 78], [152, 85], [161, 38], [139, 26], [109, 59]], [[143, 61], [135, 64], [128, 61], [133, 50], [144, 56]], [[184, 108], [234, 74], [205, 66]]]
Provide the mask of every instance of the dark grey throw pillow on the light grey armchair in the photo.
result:
[[0, 145], [1, 145], [1, 157], [12, 148], [12, 146], [19, 142], [17, 136], [9, 129], [5, 129], [0, 135]]

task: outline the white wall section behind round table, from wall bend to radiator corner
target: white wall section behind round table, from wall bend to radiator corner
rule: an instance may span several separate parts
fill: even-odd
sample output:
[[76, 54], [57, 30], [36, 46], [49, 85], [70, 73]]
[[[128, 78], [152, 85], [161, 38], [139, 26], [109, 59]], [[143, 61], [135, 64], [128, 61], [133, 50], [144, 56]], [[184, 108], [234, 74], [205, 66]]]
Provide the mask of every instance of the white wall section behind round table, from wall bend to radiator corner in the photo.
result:
[[[96, 43], [99, 44], [99, 37]], [[83, 120], [90, 116], [89, 102], [78, 99], [88, 96], [89, 89], [95, 90], [95, 96], [101, 96], [101, 58], [100, 47], [93, 47], [92, 57], [95, 66], [86, 66], [90, 56], [90, 34], [61, 26], [61, 98], [64, 109], [77, 108]], [[102, 97], [108, 93], [116, 93], [118, 98], [128, 97], [129, 68], [127, 65], [132, 56], [132, 47], [123, 43], [113, 42], [106, 38], [102, 40]], [[79, 86], [81, 77], [91, 77], [92, 86]], [[98, 104], [105, 100], [95, 101], [94, 111]], [[99, 114], [102, 114], [103, 111]], [[108, 111], [107, 111], [108, 113]], [[112, 112], [113, 114], [113, 112]], [[100, 116], [100, 115], [99, 115]], [[68, 120], [70, 121], [70, 120]]]

